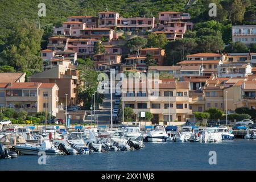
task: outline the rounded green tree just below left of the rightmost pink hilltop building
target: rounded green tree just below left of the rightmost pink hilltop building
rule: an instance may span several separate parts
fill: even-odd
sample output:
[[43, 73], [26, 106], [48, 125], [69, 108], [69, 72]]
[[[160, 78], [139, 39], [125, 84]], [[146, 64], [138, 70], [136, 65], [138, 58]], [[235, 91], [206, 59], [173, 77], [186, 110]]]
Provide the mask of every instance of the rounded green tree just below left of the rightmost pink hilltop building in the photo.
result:
[[155, 34], [154, 32], [152, 34], [148, 34], [147, 47], [164, 48], [164, 46], [166, 46], [167, 43], [168, 43], [168, 39], [164, 34], [158, 35], [158, 34]]

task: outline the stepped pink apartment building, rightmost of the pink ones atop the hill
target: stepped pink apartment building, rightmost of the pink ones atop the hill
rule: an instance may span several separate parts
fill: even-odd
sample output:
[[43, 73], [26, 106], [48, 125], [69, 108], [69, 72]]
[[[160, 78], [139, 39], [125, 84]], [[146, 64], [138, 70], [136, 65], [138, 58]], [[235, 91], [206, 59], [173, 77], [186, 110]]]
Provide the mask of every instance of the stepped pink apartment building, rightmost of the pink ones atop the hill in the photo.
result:
[[182, 39], [187, 30], [192, 30], [189, 13], [163, 11], [159, 13], [158, 31], [156, 34], [165, 34], [168, 40]]

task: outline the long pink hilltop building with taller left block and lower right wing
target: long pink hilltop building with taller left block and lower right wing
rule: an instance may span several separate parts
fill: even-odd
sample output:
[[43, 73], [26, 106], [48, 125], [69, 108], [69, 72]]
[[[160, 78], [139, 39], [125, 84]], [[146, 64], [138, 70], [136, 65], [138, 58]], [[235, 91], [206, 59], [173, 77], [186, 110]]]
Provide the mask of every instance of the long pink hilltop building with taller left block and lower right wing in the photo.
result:
[[100, 12], [100, 25], [102, 28], [117, 28], [123, 31], [146, 32], [155, 27], [155, 17], [121, 18], [119, 13], [113, 11]]

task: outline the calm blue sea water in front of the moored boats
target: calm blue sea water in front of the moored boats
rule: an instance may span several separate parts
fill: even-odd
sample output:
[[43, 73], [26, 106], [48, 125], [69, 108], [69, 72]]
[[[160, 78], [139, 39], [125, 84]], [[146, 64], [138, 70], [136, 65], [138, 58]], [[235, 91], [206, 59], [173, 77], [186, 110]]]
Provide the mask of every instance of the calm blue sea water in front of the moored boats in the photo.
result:
[[[256, 170], [256, 140], [221, 143], [145, 143], [139, 151], [92, 155], [38, 156], [0, 160], [0, 170]], [[209, 151], [217, 164], [209, 165]]]

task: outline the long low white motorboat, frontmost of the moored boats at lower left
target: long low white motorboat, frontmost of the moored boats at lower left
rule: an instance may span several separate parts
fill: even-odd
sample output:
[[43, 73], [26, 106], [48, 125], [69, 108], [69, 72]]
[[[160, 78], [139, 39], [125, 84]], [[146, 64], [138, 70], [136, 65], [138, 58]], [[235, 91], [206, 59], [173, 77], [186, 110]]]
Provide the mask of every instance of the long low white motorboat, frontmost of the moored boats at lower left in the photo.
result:
[[49, 140], [44, 140], [40, 145], [34, 144], [18, 144], [15, 147], [15, 150], [19, 151], [21, 154], [25, 155], [38, 155], [38, 152], [45, 152], [46, 155], [59, 155], [61, 154], [60, 150], [57, 149], [53, 142]]

